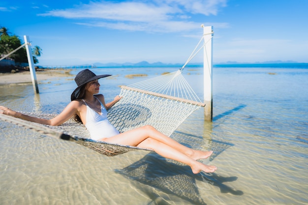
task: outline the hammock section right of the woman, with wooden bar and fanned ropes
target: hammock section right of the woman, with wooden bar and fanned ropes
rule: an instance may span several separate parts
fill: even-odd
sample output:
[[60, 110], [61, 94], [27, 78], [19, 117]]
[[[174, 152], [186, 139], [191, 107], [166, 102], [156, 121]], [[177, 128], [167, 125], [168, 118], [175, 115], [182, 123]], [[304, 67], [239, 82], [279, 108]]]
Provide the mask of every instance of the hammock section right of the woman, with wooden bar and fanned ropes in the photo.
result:
[[149, 124], [170, 136], [191, 113], [205, 106], [182, 70], [121, 88], [123, 98], [108, 110], [108, 119], [120, 132]]

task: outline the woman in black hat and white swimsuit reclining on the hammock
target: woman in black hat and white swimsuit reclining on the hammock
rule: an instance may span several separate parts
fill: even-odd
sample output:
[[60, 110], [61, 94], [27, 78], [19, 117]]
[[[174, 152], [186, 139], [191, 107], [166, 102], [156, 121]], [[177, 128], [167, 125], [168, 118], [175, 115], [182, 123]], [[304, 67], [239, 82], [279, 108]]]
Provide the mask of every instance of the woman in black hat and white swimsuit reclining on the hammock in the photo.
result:
[[71, 102], [61, 114], [52, 119], [31, 117], [3, 106], [0, 106], [0, 114], [54, 126], [61, 125], [75, 116], [76, 120], [85, 124], [93, 140], [153, 149], [165, 158], [190, 166], [194, 174], [201, 171], [207, 173], [216, 171], [216, 166], [208, 166], [197, 161], [208, 158], [213, 153], [212, 151], [194, 150], [183, 146], [150, 125], [119, 133], [108, 121], [106, 110], [116, 104], [121, 97], [116, 96], [112, 102], [105, 104], [104, 96], [98, 94], [100, 87], [98, 79], [108, 76], [110, 75], [96, 76], [89, 69], [80, 71], [75, 78], [78, 87], [71, 94]]

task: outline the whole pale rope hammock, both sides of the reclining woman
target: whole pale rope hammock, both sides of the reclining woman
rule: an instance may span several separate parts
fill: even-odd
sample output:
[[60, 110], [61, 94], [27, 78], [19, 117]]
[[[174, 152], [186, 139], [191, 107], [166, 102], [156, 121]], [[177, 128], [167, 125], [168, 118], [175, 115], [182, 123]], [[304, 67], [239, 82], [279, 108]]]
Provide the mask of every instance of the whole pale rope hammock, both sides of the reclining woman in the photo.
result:
[[[108, 119], [120, 132], [152, 125], [170, 136], [189, 115], [205, 106], [185, 81], [181, 69], [128, 87], [123, 86], [120, 96], [123, 98], [108, 110]], [[40, 118], [55, 117], [55, 114], [25, 114]], [[0, 115], [0, 118], [45, 135], [73, 140], [107, 156], [143, 149], [93, 141], [85, 126], [74, 119], [60, 126], [48, 126], [4, 115]]]

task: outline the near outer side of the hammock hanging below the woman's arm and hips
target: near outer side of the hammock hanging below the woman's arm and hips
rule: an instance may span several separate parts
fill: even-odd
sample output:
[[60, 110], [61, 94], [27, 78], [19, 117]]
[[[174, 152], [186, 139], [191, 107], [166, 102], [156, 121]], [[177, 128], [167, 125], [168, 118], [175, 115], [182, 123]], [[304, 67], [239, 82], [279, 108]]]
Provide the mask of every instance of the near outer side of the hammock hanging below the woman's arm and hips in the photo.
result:
[[79, 145], [91, 148], [106, 156], [116, 156], [118, 154], [123, 154], [131, 150], [153, 151], [152, 149], [140, 148], [136, 146], [124, 146], [124, 145], [118, 145], [118, 144], [107, 143], [107, 142], [102, 142], [102, 141], [94, 141], [94, 140], [87, 139], [87, 138], [73, 136], [73, 135], [70, 135], [69, 133], [65, 133], [57, 129], [49, 128], [42, 124], [37, 124], [35, 122], [30, 122], [30, 121], [23, 120], [20, 118], [6, 116], [3, 114], [0, 114], [0, 119], [6, 122], [10, 122], [10, 123], [22, 126], [22, 127], [29, 128], [31, 130], [37, 131], [47, 136], [51, 136], [56, 139], [62, 139], [62, 140], [75, 142]]

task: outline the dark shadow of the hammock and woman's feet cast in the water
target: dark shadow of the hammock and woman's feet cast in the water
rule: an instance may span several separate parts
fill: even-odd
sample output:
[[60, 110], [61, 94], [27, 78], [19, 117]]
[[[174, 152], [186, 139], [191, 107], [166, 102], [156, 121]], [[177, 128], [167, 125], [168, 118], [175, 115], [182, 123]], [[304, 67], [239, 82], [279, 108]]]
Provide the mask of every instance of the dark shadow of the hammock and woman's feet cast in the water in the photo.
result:
[[[191, 138], [193, 138], [193, 142], [198, 145], [199, 148], [200, 145], [202, 145], [202, 149], [208, 147], [213, 150], [214, 153], [210, 160], [213, 160], [219, 153], [227, 149], [229, 146], [233, 146], [232, 144], [206, 140], [194, 135], [188, 135], [187, 137], [187, 134], [181, 132], [175, 132], [172, 137], [181, 144], [189, 144], [185, 141], [187, 138], [190, 138], [191, 144]], [[236, 176], [223, 177], [215, 173], [202, 173], [195, 175], [191, 172], [189, 166], [184, 166], [173, 160], [165, 159], [155, 152], [147, 154], [141, 160], [121, 170], [116, 170], [116, 172], [138, 182], [136, 187], [140, 187], [140, 183], [145, 184], [140, 189], [157, 204], [159, 204], [157, 201], [163, 196], [158, 196], [158, 194], [153, 193], [153, 188], [151, 187], [159, 189], [167, 195], [180, 197], [181, 199], [185, 199], [187, 202], [200, 205], [206, 205], [206, 203], [200, 197], [199, 189], [204, 189], [206, 187], [208, 190], [211, 185], [219, 187], [221, 193], [243, 195], [242, 191], [234, 190], [223, 184], [223, 182], [237, 180]], [[203, 186], [198, 182], [197, 186], [196, 181], [200, 181], [201, 184], [202, 182], [205, 182], [205, 184]]]

